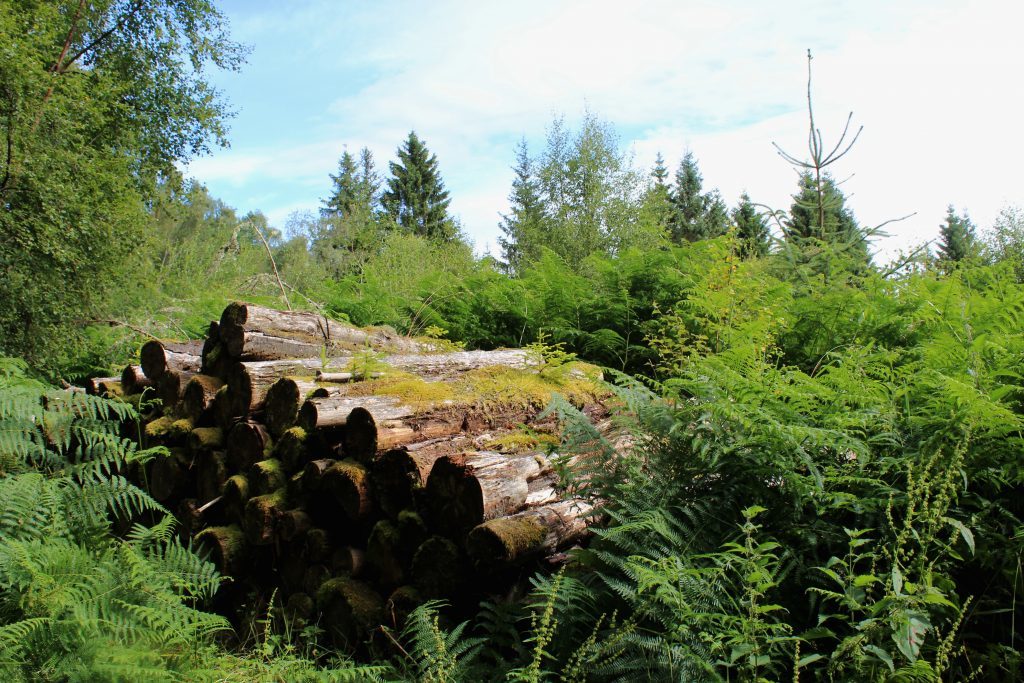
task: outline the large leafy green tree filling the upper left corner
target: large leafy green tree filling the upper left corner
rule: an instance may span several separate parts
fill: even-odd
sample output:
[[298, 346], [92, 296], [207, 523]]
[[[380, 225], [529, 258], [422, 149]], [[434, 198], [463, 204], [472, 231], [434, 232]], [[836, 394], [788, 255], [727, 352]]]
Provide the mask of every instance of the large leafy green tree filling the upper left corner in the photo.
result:
[[0, 8], [0, 352], [52, 360], [123, 289], [146, 200], [224, 141], [207, 68], [243, 50], [205, 0]]

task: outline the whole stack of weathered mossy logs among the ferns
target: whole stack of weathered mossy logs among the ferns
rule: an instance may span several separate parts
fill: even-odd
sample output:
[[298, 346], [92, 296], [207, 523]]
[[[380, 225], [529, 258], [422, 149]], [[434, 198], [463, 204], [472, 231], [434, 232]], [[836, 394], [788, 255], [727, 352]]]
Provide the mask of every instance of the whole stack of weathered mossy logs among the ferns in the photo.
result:
[[585, 539], [592, 508], [563, 500], [539, 415], [558, 391], [603, 417], [599, 374], [549, 370], [232, 303], [205, 340], [151, 341], [87, 390], [142, 407], [142, 445], [168, 455], [139, 482], [223, 591], [276, 591], [352, 644], [425, 600], [475, 607]]

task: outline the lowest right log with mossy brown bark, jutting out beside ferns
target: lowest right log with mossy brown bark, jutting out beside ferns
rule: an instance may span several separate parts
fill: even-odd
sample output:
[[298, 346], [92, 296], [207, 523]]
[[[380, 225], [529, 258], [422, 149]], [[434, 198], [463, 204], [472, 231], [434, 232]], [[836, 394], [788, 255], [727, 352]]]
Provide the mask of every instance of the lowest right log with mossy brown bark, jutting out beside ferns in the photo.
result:
[[481, 566], [551, 555], [587, 533], [592, 510], [582, 500], [559, 501], [490, 519], [470, 531], [466, 545], [470, 557]]

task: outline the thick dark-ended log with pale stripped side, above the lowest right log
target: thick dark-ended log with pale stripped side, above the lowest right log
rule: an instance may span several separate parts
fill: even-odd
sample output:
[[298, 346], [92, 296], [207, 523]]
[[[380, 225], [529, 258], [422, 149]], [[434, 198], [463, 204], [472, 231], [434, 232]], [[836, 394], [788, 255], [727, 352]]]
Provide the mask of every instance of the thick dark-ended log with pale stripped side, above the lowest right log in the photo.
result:
[[488, 519], [516, 513], [526, 506], [529, 482], [548, 471], [540, 454], [442, 456], [427, 478], [432, 523], [438, 531], [461, 538]]

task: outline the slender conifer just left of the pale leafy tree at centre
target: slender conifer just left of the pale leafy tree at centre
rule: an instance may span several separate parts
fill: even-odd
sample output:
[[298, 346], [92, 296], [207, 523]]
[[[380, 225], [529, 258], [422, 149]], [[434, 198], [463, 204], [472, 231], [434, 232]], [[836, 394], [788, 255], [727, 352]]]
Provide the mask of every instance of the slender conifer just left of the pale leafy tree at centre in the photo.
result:
[[512, 170], [515, 179], [509, 195], [510, 211], [502, 214], [499, 227], [504, 237], [499, 237], [498, 243], [508, 270], [519, 272], [540, 256], [540, 246], [548, 227], [535, 164], [524, 139], [516, 145]]

